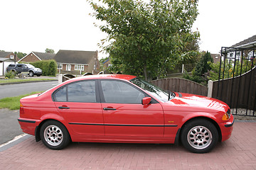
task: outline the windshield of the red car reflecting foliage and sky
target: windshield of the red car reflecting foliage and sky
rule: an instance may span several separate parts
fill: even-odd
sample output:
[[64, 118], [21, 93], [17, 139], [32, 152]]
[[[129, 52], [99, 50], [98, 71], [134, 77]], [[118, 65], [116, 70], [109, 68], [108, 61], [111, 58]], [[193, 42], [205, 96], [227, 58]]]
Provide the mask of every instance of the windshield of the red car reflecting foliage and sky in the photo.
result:
[[[149, 82], [146, 82], [146, 81], [144, 81], [142, 79], [139, 79], [139, 78], [135, 78], [135, 79], [132, 79], [130, 81], [133, 84], [136, 84], [140, 88], [144, 89], [144, 91], [149, 92], [149, 94], [156, 97], [160, 101], [162, 101], [162, 102], [168, 101], [169, 94], [166, 93], [166, 91], [160, 89], [159, 87], [154, 86], [153, 84], [149, 84]], [[172, 92], [170, 92], [170, 93], [172, 93]], [[171, 98], [173, 98], [173, 97], [174, 97], [173, 94], [171, 94]]]

